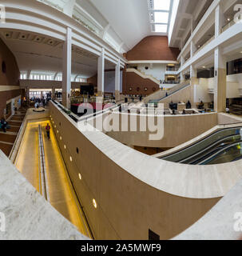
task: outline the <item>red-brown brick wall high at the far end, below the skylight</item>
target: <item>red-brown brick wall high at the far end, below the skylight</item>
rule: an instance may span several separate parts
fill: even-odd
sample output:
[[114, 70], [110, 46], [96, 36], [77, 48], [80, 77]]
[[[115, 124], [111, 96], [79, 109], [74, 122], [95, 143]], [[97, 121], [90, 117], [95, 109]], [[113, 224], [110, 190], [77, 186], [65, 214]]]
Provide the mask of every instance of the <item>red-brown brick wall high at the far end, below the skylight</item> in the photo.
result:
[[180, 54], [178, 48], [169, 47], [168, 38], [166, 36], [149, 36], [141, 40], [129, 50], [125, 57], [129, 61], [137, 60], [169, 60], [177, 61]]

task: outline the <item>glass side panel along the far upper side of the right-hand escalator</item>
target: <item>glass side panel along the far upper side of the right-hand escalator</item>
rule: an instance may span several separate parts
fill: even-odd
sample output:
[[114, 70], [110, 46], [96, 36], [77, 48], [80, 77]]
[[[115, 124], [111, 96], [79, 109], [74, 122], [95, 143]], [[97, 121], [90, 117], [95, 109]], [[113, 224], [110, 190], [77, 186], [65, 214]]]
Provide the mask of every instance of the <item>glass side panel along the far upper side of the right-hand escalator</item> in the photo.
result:
[[218, 130], [200, 142], [196, 142], [192, 146], [188, 146], [184, 150], [180, 150], [177, 153], [169, 154], [162, 159], [170, 162], [184, 162], [184, 159], [188, 160], [188, 158], [198, 158], [200, 154], [206, 152], [208, 147], [211, 147], [216, 142], [220, 142], [220, 140], [227, 138], [233, 138], [233, 136], [236, 138], [238, 134], [240, 135], [240, 129], [241, 127], [233, 127]]

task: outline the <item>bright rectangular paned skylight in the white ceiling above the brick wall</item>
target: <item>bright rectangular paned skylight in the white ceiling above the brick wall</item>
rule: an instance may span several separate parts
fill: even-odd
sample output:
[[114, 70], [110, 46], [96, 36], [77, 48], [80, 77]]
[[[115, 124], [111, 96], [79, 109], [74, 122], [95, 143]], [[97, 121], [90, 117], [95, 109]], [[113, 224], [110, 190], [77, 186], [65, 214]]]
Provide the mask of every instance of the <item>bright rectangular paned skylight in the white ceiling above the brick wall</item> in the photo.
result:
[[148, 0], [152, 32], [168, 34], [173, 0]]

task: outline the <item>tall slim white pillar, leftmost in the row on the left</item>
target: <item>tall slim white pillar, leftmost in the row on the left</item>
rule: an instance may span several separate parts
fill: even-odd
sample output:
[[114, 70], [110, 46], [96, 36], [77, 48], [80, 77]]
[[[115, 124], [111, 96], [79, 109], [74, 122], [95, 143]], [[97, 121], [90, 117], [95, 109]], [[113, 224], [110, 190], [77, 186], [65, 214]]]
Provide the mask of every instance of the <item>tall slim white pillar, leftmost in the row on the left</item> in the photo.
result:
[[67, 28], [63, 46], [62, 105], [70, 108], [72, 30]]

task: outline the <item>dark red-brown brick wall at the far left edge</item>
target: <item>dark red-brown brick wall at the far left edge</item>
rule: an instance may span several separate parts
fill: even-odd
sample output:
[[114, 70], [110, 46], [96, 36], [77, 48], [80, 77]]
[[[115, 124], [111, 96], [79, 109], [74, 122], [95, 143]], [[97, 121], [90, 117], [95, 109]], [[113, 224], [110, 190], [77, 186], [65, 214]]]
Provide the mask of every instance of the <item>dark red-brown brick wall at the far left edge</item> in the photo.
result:
[[[0, 118], [6, 114], [6, 102], [21, 94], [19, 87], [20, 72], [14, 54], [0, 39]], [[6, 114], [8, 118], [13, 114]]]

